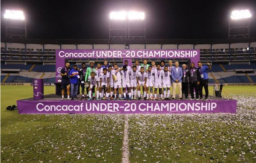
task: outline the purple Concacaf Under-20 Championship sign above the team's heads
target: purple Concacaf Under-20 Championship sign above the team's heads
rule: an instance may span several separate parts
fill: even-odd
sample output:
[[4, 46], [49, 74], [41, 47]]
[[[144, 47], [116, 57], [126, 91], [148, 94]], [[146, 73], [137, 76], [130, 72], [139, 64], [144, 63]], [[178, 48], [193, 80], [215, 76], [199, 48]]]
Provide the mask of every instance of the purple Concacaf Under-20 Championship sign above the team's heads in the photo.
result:
[[56, 50], [56, 58], [199, 58], [200, 50], [182, 49], [88, 49]]

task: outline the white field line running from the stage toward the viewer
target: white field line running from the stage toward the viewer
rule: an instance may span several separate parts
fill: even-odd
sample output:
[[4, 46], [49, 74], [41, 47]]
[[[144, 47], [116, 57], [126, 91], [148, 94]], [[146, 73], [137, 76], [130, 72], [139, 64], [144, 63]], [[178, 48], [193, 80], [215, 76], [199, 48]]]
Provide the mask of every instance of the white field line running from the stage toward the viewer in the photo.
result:
[[124, 115], [124, 140], [122, 146], [122, 163], [129, 163], [128, 115]]

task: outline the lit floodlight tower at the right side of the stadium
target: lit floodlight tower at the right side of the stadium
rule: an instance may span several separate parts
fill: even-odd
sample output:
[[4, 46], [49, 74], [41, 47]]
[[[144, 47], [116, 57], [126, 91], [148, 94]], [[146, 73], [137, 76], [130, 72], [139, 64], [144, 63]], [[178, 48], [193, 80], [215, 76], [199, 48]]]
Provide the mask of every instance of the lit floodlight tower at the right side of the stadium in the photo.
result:
[[250, 37], [251, 13], [249, 10], [235, 10], [231, 13], [228, 38]]

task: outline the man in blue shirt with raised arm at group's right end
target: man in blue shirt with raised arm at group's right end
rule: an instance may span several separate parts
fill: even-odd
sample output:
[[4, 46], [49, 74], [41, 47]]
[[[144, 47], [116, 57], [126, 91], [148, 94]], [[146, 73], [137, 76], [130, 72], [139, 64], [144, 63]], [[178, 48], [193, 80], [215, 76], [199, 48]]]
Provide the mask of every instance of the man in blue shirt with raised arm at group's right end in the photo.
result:
[[208, 69], [212, 69], [212, 66], [210, 65], [210, 63], [207, 62], [207, 66], [202, 65], [202, 62], [197, 62], [198, 64], [198, 69], [199, 69], [199, 73], [200, 73], [200, 79], [199, 79], [199, 95], [200, 95], [200, 100], [202, 101], [203, 98], [203, 87], [205, 90], [205, 98], [204, 101], [207, 101], [208, 99]]

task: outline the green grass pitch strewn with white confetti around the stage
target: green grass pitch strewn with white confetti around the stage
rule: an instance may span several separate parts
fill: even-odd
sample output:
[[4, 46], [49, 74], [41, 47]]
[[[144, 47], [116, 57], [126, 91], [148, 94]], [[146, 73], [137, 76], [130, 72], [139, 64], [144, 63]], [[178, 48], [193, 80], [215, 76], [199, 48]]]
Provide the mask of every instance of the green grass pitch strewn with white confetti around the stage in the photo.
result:
[[[222, 95], [238, 100], [232, 115], [127, 115], [129, 161], [256, 162], [255, 90], [224, 86]], [[54, 92], [54, 86], [44, 87], [44, 94]], [[2, 162], [121, 162], [125, 115], [18, 115], [5, 109], [29, 97], [32, 86], [1, 86]]]

